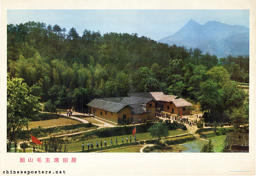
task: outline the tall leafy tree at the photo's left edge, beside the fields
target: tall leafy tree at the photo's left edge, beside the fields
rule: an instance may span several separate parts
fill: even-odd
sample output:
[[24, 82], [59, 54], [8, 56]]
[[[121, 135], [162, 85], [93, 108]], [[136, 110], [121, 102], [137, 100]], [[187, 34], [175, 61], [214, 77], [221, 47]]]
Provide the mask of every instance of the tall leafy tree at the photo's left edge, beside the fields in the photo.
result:
[[29, 118], [39, 109], [38, 98], [31, 95], [29, 86], [22, 78], [7, 77], [7, 151], [11, 143], [17, 148], [18, 134], [23, 126], [28, 125]]

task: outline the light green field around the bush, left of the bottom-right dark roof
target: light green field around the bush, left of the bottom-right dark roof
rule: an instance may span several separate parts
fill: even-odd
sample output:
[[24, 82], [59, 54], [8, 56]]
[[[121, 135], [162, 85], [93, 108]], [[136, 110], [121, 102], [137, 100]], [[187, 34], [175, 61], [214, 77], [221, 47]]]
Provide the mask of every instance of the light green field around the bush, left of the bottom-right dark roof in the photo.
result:
[[[223, 140], [226, 138], [225, 135], [222, 136], [215, 136], [211, 138], [207, 138], [207, 140], [211, 139], [211, 143], [213, 144], [214, 152], [220, 152], [222, 149]], [[188, 148], [188, 150], [182, 151], [186, 153], [200, 153], [200, 150], [203, 148], [203, 145], [208, 143], [207, 141], [203, 140], [196, 140], [188, 143], [182, 144], [182, 146]]]

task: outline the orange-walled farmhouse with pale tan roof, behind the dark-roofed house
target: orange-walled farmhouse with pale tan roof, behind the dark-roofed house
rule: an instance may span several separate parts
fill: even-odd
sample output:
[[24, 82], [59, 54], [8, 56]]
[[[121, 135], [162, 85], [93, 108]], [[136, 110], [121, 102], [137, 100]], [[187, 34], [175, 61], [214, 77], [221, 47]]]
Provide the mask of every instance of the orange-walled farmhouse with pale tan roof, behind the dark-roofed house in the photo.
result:
[[192, 106], [191, 103], [176, 96], [176, 95], [164, 95], [163, 92], [142, 92], [142, 93], [130, 93], [129, 96], [153, 99], [156, 101], [156, 110], [162, 110], [170, 114], [186, 115], [190, 114], [190, 110], [187, 110], [187, 106]]

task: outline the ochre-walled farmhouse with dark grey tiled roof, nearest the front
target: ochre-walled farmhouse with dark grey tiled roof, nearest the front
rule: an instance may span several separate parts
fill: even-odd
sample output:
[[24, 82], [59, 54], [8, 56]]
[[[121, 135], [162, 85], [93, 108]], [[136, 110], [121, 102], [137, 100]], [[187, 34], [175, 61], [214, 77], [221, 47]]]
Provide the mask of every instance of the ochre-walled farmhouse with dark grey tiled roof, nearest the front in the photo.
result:
[[116, 97], [93, 99], [87, 104], [95, 116], [117, 124], [135, 122], [155, 117], [155, 101], [140, 97]]

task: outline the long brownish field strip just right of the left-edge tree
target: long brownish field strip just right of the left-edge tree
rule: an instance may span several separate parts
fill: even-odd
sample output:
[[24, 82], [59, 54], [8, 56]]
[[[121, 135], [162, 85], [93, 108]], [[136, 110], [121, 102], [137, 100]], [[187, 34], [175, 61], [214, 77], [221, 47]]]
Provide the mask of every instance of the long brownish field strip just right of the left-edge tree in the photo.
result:
[[28, 128], [36, 128], [38, 126], [45, 128], [45, 127], [51, 127], [55, 125], [71, 125], [71, 124], [79, 124], [79, 122], [71, 119], [67, 119], [67, 118], [57, 118], [57, 119], [51, 119], [46, 121], [32, 121], [31, 125], [29, 125]]

